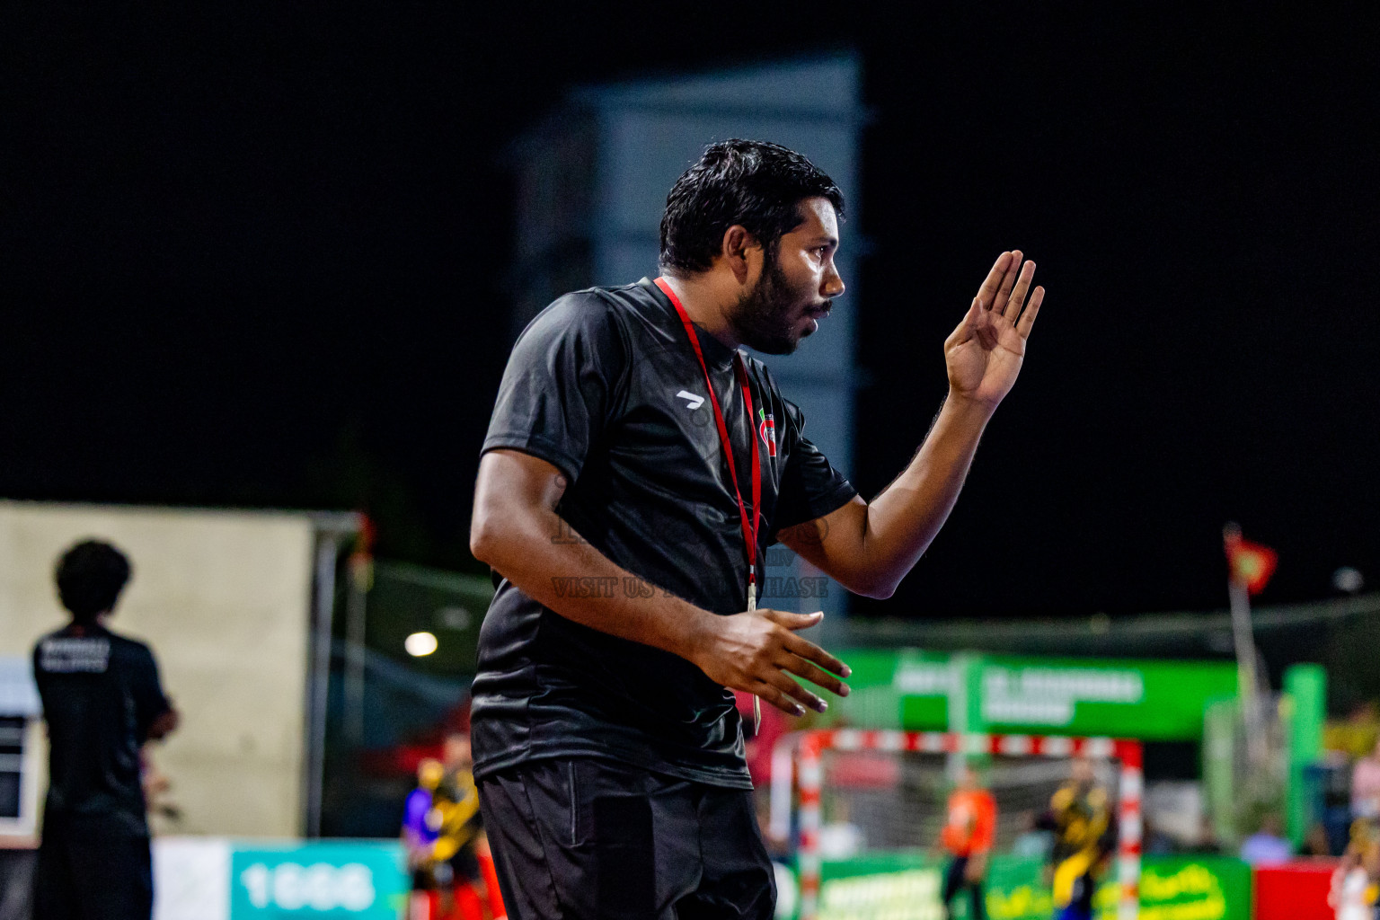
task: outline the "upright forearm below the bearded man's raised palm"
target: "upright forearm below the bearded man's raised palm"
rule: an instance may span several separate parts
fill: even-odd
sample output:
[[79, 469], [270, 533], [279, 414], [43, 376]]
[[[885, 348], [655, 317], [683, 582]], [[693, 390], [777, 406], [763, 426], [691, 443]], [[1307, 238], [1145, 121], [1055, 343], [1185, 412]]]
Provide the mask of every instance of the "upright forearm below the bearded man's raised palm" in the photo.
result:
[[894, 586], [948, 520], [995, 407], [944, 401], [915, 458], [867, 505], [862, 557], [874, 579]]

